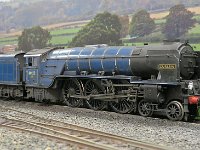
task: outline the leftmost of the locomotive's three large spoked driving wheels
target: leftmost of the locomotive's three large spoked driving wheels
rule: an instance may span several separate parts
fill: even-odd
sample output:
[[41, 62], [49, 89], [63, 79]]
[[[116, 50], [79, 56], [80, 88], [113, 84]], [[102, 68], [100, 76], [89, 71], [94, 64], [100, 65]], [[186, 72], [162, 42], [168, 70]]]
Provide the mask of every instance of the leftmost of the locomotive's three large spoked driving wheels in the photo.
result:
[[65, 81], [63, 90], [63, 101], [62, 103], [70, 107], [80, 107], [83, 104], [83, 100], [76, 98], [76, 96], [82, 96], [83, 91], [81, 83], [77, 79], [68, 79]]

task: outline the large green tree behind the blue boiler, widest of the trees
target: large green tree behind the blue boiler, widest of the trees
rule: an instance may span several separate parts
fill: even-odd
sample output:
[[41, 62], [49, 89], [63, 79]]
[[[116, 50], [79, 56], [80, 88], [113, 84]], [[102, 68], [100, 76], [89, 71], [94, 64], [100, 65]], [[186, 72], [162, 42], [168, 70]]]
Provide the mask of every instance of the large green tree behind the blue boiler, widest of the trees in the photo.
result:
[[108, 12], [97, 14], [69, 44], [70, 47], [91, 44], [117, 45], [120, 43], [121, 23], [117, 15]]

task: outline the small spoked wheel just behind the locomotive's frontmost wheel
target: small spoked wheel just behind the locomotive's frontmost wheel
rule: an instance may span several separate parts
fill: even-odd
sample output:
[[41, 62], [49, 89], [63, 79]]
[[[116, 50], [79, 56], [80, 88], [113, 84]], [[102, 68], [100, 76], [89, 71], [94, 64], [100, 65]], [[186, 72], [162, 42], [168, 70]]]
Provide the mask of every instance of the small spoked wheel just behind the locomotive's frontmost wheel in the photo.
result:
[[150, 117], [153, 115], [153, 109], [150, 103], [146, 100], [141, 100], [138, 103], [138, 112], [141, 116]]

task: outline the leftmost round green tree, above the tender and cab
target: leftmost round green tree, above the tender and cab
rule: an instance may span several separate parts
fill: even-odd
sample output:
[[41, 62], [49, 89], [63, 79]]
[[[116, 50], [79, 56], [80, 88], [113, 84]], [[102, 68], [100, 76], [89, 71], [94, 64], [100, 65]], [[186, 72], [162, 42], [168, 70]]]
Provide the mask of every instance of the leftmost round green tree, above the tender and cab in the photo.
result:
[[50, 32], [40, 26], [24, 29], [22, 35], [18, 38], [18, 47], [19, 50], [25, 52], [32, 49], [40, 49], [46, 47], [50, 39]]

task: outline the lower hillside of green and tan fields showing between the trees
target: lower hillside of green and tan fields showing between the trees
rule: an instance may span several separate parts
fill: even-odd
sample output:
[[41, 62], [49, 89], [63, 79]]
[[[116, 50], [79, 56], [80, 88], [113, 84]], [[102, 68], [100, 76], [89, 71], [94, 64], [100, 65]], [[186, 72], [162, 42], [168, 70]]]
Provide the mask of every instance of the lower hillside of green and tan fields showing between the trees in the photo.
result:
[[[195, 16], [194, 19], [196, 19], [197, 23], [195, 24], [195, 27], [189, 30], [189, 32], [186, 34], [184, 39], [189, 39], [190, 43], [193, 43], [196, 50], [200, 50], [200, 44], [199, 43], [199, 37], [200, 37], [200, 6], [199, 7], [190, 7], [188, 10], [192, 11]], [[143, 39], [138, 39], [139, 43], [142, 42], [162, 42], [164, 39], [164, 35], [161, 33], [161, 26], [163, 23], [165, 23], [166, 19], [163, 18], [167, 14], [169, 14], [169, 11], [161, 11], [161, 12], [152, 12], [150, 13], [150, 16], [154, 19], [157, 30], [150, 34], [149, 36], [145, 36]], [[131, 18], [131, 15], [130, 15]], [[52, 35], [52, 39], [50, 41], [50, 44], [54, 46], [65, 46], [67, 45], [72, 38], [76, 35], [76, 33], [87, 24], [89, 20], [85, 21], [75, 21], [75, 22], [66, 22], [66, 23], [57, 23], [57, 24], [51, 24], [47, 26], [43, 26], [43, 28], [48, 29]], [[11, 33], [5, 33], [0, 34], [0, 47], [3, 45], [9, 45], [9, 44], [17, 44], [18, 36], [21, 35], [21, 31], [17, 32], [11, 32]], [[124, 40], [124, 43], [129, 44], [130, 41], [127, 41], [126, 38]], [[135, 41], [138, 43], [137, 41]], [[132, 45], [132, 43], [131, 43]]]

